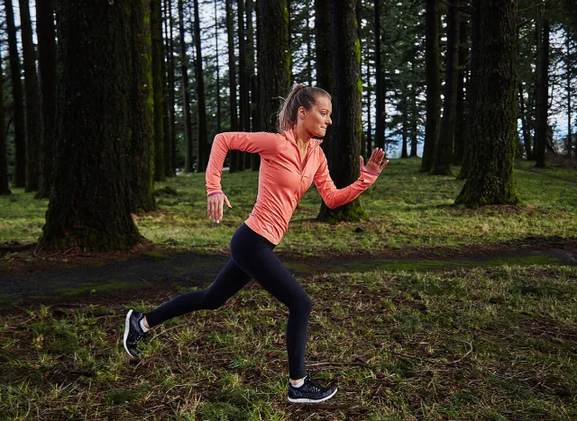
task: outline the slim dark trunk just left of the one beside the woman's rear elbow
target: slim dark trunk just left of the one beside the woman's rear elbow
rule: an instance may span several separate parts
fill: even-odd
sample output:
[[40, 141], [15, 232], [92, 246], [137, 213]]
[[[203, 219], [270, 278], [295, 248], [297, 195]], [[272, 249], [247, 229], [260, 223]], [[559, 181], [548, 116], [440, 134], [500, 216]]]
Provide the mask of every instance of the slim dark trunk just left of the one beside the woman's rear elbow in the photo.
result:
[[190, 93], [188, 91], [188, 58], [187, 44], [184, 39], [183, 0], [179, 0], [179, 41], [180, 41], [180, 76], [182, 77], [182, 113], [184, 114], [185, 165], [184, 172], [194, 171], [194, 156], [192, 146], [192, 118], [190, 116]]

